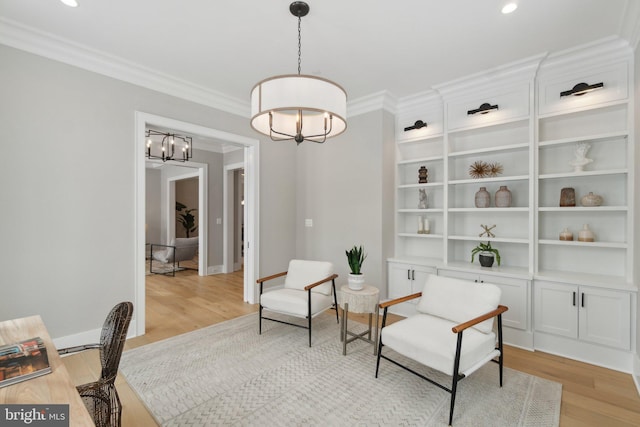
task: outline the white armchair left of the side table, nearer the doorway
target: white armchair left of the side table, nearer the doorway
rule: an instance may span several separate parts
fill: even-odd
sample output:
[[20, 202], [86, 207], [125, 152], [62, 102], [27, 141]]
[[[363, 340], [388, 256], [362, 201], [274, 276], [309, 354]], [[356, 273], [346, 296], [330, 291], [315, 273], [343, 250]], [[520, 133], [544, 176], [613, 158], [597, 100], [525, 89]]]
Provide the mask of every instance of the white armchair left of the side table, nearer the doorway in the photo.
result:
[[[264, 282], [282, 276], [286, 276], [283, 288], [263, 292]], [[287, 271], [258, 279], [257, 283], [260, 285], [259, 333], [262, 334], [262, 319], [306, 328], [309, 330], [309, 347], [311, 347], [311, 320], [315, 316], [335, 307], [336, 323], [339, 323], [335, 282], [337, 277], [337, 274], [333, 274], [333, 264], [330, 262], [294, 259], [289, 262]], [[307, 319], [307, 326], [265, 317], [264, 310]]]

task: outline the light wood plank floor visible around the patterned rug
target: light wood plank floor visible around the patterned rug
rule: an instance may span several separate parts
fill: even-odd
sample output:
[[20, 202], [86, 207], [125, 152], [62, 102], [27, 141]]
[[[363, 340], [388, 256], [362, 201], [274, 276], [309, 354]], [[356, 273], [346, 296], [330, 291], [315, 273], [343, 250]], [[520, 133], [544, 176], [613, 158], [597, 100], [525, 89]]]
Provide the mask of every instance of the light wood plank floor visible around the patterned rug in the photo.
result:
[[[242, 296], [241, 272], [147, 276], [146, 335], [128, 340], [125, 350], [256, 312], [257, 306], [242, 302]], [[360, 320], [365, 322], [364, 316]], [[64, 362], [76, 384], [99, 375], [95, 352], [66, 357]], [[505, 366], [562, 383], [562, 427], [640, 426], [640, 397], [628, 374], [509, 346]], [[121, 376], [116, 386], [124, 406], [123, 427], [157, 425]]]

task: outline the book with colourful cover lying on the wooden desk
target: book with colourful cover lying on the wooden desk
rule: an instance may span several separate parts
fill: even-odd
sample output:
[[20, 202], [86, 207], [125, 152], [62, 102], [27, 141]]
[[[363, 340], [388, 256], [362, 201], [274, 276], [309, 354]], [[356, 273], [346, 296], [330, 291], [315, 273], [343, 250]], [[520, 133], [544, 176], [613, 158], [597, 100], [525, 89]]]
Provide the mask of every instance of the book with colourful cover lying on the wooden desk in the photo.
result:
[[40, 337], [0, 346], [0, 387], [50, 372], [47, 348]]

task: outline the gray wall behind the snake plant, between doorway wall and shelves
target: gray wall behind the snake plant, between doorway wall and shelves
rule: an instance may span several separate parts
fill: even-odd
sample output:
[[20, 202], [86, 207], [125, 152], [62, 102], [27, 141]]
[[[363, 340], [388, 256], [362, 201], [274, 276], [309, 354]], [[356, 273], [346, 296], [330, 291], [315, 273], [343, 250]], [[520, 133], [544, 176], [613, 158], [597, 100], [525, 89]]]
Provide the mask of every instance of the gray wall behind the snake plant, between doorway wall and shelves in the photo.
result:
[[296, 159], [297, 256], [333, 262], [341, 285], [349, 273], [345, 250], [363, 245], [365, 280], [382, 295], [393, 250], [393, 126], [382, 111], [352, 117], [339, 137], [302, 143]]

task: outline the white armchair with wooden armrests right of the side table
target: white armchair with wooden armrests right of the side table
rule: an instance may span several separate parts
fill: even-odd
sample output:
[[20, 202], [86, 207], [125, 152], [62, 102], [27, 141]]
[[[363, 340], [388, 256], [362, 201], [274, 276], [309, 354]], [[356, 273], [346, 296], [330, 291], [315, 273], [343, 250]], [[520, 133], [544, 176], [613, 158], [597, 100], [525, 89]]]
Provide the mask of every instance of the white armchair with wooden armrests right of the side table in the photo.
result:
[[[502, 313], [508, 308], [499, 305], [500, 296], [501, 290], [496, 285], [429, 275], [422, 292], [380, 303], [384, 311], [376, 378], [382, 358], [449, 392], [451, 425], [458, 381], [494, 361], [499, 364], [502, 387]], [[387, 309], [414, 298], [420, 298], [417, 314], [386, 326]], [[382, 354], [384, 347], [450, 375], [451, 388], [403, 365], [397, 357]]]

